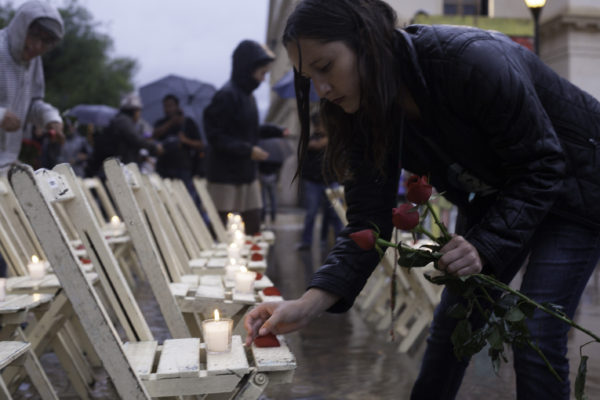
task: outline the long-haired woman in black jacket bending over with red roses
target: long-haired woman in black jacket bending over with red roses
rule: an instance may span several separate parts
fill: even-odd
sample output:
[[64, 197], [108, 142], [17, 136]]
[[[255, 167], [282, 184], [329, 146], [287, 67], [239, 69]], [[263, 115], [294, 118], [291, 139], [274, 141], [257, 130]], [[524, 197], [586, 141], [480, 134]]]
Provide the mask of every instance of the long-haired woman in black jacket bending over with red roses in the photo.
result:
[[[349, 233], [376, 224], [391, 235], [399, 165], [455, 203], [466, 224], [442, 249], [441, 269], [493, 273], [573, 318], [600, 256], [600, 103], [535, 54], [498, 32], [470, 27], [396, 29], [381, 0], [304, 0], [284, 44], [296, 70], [308, 143], [310, 80], [322, 98], [327, 155], [344, 182], [349, 225], [297, 300], [259, 305], [245, 321], [257, 334], [298, 329], [346, 311], [377, 265]], [[350, 174], [350, 175], [348, 175]], [[468, 360], [453, 354], [459, 299], [444, 291], [412, 399], [453, 399]], [[517, 398], [569, 398], [569, 326], [536, 311], [527, 325], [562, 378], [538, 354], [514, 351]]]

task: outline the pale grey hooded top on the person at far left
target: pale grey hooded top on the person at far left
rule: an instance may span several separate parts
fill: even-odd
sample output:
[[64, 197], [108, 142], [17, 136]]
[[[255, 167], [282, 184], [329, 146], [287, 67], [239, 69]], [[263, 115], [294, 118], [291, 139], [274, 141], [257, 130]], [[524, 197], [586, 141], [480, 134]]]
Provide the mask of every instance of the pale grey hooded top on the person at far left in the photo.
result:
[[29, 122], [45, 126], [62, 122], [57, 109], [45, 103], [42, 58], [21, 61], [29, 25], [38, 18], [50, 18], [63, 29], [62, 18], [50, 4], [29, 1], [16, 12], [8, 26], [0, 30], [0, 121], [7, 111], [15, 114], [21, 127], [14, 132], [0, 128], [0, 173], [16, 161], [21, 150], [23, 128]]

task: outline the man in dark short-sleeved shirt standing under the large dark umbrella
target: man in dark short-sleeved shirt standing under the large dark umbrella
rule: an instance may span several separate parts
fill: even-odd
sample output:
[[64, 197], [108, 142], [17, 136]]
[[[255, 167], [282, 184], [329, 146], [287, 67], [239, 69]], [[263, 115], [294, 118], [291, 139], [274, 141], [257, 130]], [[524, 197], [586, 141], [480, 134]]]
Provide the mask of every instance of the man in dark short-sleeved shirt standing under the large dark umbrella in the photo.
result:
[[164, 149], [156, 161], [156, 172], [163, 178], [182, 180], [196, 205], [200, 206], [192, 181], [193, 156], [204, 147], [198, 126], [183, 115], [177, 96], [167, 94], [162, 102], [165, 116], [156, 121], [152, 132], [152, 137], [160, 141]]

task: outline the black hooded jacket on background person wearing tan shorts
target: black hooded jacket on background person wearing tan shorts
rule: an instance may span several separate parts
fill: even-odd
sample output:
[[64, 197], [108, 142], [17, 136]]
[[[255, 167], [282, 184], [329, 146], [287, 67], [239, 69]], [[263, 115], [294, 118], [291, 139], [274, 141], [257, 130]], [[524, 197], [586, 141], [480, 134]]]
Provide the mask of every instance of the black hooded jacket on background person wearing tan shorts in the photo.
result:
[[258, 87], [252, 73], [272, 61], [256, 42], [243, 41], [233, 53], [231, 80], [204, 110], [208, 139], [206, 176], [210, 182], [245, 184], [256, 179], [257, 163], [250, 159], [258, 141], [258, 109], [252, 95]]

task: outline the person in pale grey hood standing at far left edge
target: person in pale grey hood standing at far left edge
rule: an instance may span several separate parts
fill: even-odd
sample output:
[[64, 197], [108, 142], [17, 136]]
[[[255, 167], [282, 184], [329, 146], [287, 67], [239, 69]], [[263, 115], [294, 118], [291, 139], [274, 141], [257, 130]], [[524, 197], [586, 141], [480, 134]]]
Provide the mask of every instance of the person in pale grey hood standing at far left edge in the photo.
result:
[[62, 137], [60, 113], [44, 98], [41, 55], [64, 33], [60, 14], [42, 1], [24, 3], [0, 30], [0, 174], [17, 160], [30, 122]]

